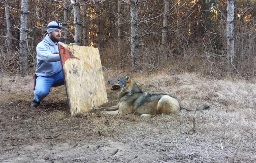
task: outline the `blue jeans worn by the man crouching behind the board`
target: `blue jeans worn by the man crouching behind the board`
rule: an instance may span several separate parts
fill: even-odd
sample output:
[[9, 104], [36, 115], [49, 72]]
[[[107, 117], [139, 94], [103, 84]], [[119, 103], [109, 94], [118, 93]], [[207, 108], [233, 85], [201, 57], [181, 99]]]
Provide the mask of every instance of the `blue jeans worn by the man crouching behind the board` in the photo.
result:
[[38, 76], [36, 78], [34, 100], [37, 102], [42, 101], [49, 94], [51, 87], [58, 87], [61, 85], [64, 85], [62, 70], [57, 75], [51, 77]]

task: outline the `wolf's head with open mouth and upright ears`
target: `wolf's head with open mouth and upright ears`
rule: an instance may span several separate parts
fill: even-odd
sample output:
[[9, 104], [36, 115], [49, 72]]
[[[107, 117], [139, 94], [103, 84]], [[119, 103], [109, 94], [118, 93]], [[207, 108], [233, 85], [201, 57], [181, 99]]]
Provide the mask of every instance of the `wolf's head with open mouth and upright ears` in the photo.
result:
[[135, 81], [129, 74], [125, 74], [116, 80], [109, 80], [108, 83], [111, 85], [111, 90], [119, 90], [119, 93], [125, 92], [141, 92]]

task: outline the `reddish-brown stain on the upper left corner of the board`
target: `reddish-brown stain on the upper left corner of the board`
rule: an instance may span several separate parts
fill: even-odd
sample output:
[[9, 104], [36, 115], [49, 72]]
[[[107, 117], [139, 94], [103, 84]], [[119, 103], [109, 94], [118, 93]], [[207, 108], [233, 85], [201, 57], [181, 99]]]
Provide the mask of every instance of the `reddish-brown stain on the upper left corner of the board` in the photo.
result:
[[67, 59], [77, 59], [80, 60], [78, 57], [74, 55], [74, 49], [72, 45], [68, 45], [68, 49], [63, 47], [61, 44], [58, 44], [59, 53], [60, 53], [60, 60], [61, 64], [64, 65]]

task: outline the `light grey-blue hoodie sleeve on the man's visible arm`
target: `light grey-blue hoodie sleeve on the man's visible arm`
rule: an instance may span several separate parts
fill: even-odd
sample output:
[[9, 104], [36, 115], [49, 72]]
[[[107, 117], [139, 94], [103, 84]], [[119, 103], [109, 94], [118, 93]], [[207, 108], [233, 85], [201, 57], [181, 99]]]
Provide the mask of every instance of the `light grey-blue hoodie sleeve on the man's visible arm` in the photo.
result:
[[60, 55], [53, 54], [50, 50], [47, 49], [45, 45], [38, 44], [36, 46], [38, 60], [47, 61], [47, 62], [57, 62], [60, 61]]

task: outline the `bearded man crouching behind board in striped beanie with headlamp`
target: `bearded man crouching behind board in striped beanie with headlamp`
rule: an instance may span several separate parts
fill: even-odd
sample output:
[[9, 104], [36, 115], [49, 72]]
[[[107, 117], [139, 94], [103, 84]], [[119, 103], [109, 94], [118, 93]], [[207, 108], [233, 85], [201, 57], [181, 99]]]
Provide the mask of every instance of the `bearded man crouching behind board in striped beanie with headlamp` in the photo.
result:
[[47, 26], [47, 35], [36, 46], [36, 86], [31, 106], [37, 107], [49, 94], [51, 87], [64, 85], [58, 44], [62, 32], [62, 23], [52, 21]]

